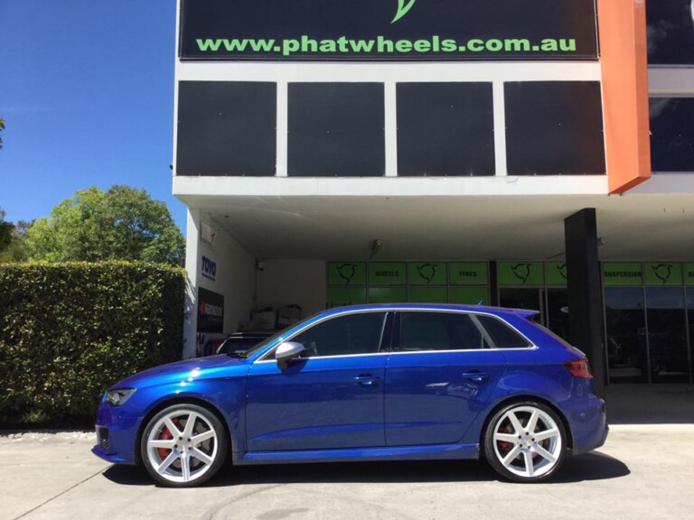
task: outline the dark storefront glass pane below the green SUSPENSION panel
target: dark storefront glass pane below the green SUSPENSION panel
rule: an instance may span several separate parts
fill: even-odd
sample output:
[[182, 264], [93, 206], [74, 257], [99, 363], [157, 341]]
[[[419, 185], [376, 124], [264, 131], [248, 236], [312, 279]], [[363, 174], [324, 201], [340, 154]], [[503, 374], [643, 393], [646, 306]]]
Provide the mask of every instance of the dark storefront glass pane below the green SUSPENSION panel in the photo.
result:
[[610, 383], [647, 383], [648, 357], [642, 287], [605, 287]]

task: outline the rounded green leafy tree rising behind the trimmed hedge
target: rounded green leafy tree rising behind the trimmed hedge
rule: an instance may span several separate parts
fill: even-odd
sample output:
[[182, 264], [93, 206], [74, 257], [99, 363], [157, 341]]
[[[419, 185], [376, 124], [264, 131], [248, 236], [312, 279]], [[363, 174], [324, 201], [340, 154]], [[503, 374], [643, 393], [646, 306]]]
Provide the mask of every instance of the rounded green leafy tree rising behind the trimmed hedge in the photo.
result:
[[114, 185], [78, 190], [26, 232], [32, 260], [144, 260], [179, 265], [185, 240], [163, 202]]

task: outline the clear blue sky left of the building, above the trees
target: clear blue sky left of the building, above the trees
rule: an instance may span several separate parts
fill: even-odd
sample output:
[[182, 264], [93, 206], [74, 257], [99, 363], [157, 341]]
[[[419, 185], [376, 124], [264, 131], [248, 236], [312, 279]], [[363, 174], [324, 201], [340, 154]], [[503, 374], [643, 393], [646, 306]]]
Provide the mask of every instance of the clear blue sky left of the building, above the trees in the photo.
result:
[[171, 194], [175, 0], [0, 0], [0, 207], [47, 217], [75, 190]]

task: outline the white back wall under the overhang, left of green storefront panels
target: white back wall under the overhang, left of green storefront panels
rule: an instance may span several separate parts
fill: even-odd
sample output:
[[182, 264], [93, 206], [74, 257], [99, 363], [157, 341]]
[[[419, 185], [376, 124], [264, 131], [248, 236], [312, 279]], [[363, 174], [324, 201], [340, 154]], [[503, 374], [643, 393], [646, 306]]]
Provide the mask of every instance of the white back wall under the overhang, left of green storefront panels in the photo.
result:
[[258, 309], [299, 305], [304, 316], [325, 309], [325, 262], [265, 260], [258, 270]]

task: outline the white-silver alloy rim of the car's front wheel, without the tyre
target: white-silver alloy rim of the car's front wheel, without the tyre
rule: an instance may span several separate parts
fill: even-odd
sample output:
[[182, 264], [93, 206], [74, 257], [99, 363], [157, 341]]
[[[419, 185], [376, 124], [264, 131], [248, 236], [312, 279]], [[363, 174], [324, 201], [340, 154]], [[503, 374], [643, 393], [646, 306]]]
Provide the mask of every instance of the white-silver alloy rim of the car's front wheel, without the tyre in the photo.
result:
[[217, 432], [202, 413], [181, 408], [166, 413], [147, 435], [147, 459], [159, 476], [185, 483], [202, 478], [219, 451]]

